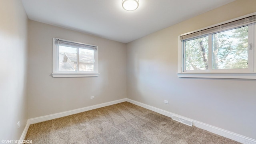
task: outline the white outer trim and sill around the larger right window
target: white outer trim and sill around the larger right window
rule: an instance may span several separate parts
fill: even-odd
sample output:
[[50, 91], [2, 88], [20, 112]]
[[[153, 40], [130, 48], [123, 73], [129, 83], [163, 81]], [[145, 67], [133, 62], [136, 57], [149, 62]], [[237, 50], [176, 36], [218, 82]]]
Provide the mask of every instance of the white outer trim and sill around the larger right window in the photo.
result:
[[[201, 31], [201, 30], [206, 30], [208, 28], [212, 28], [212, 27], [216, 27], [216, 26], [219, 26], [219, 25], [222, 25], [222, 24], [226, 24], [226, 23], [229, 23], [229, 22], [233, 22], [233, 21], [236, 21], [236, 20], [240, 20], [242, 18], [246, 18], [246, 17], [249, 17], [249, 16], [253, 16], [253, 15], [256, 15], [256, 12], [254, 13], [251, 13], [251, 14], [247, 14], [245, 16], [240, 16], [238, 18], [234, 18], [232, 20], [228, 20], [228, 21], [225, 21], [225, 22], [221, 22], [221, 23], [218, 23], [218, 24], [214, 24], [212, 26], [208, 26], [206, 28], [201, 28], [199, 30], [194, 30], [192, 32], [188, 32], [188, 33], [185, 33], [185, 34], [181, 34], [178, 36], [178, 72], [177, 72], [177, 75], [179, 78], [235, 78], [235, 79], [256, 79], [256, 24], [254, 24], [254, 30], [253, 30], [253, 34], [254, 34], [254, 38], [253, 38], [253, 56], [252, 56], [252, 59], [253, 59], [253, 62], [254, 64], [252, 64], [252, 71], [247, 71], [247, 72], [225, 72], [225, 70], [222, 70], [220, 72], [212, 72], [212, 71], [208, 71], [208, 70], [203, 70], [203, 71], [194, 71], [194, 72], [184, 72], [183, 71], [183, 68], [184, 68], [184, 62], [183, 62], [183, 40], [180, 40], [180, 37], [183, 36], [183, 35], [186, 35], [186, 34], [192, 34], [194, 32], [198, 32], [198, 31]], [[230, 27], [232, 28], [232, 27]], [[250, 32], [250, 31], [249, 31]], [[253, 35], [251, 34], [251, 35]], [[205, 35], [205, 34], [204, 34]], [[206, 34], [207, 35], [207, 34]], [[250, 34], [248, 34], [248, 36], [250, 36]], [[194, 37], [195, 38], [195, 37]], [[209, 55], [210, 55], [210, 52], [209, 52]]]

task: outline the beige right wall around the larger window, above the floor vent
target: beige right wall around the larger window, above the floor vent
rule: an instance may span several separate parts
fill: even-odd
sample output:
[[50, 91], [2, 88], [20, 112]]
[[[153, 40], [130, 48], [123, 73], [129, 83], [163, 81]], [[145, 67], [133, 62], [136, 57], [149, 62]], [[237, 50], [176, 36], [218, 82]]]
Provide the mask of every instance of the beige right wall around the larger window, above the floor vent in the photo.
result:
[[[256, 12], [237, 0], [127, 44], [127, 98], [256, 139], [256, 80], [178, 78], [178, 35]], [[164, 104], [169, 100], [169, 104]]]

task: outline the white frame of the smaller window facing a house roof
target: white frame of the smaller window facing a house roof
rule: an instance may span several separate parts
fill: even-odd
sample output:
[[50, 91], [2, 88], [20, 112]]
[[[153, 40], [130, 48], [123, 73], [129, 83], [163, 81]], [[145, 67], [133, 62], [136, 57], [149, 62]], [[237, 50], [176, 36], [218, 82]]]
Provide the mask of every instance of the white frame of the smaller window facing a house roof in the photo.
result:
[[[92, 46], [96, 48], [94, 50], [94, 71], [93, 72], [82, 72], [77, 70], [77, 72], [65, 72], [65, 71], [58, 71], [58, 62], [59, 62], [59, 46], [56, 44], [56, 40], [62, 40], [66, 42], [82, 44], [86, 46]], [[79, 61], [79, 48], [77, 51], [77, 60]], [[78, 62], [77, 62], [77, 65]], [[98, 72], [98, 46], [92, 44], [84, 44], [81, 42], [75, 42], [71, 40], [64, 40], [61, 38], [52, 38], [52, 76], [53, 77], [92, 77], [92, 76], [99, 76]]]

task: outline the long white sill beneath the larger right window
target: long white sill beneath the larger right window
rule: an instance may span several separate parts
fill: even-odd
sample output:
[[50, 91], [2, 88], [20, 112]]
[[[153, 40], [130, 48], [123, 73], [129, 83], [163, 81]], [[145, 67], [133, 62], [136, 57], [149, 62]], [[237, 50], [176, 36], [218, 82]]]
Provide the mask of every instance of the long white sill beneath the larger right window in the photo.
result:
[[179, 78], [256, 79], [256, 73], [177, 73]]

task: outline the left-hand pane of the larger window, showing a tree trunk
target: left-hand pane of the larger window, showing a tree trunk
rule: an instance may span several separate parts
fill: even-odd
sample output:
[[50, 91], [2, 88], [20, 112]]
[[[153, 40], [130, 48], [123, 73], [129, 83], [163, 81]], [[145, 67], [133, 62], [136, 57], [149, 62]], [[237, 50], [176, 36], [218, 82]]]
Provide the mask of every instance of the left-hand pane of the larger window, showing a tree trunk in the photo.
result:
[[185, 70], [208, 70], [208, 36], [185, 42]]

